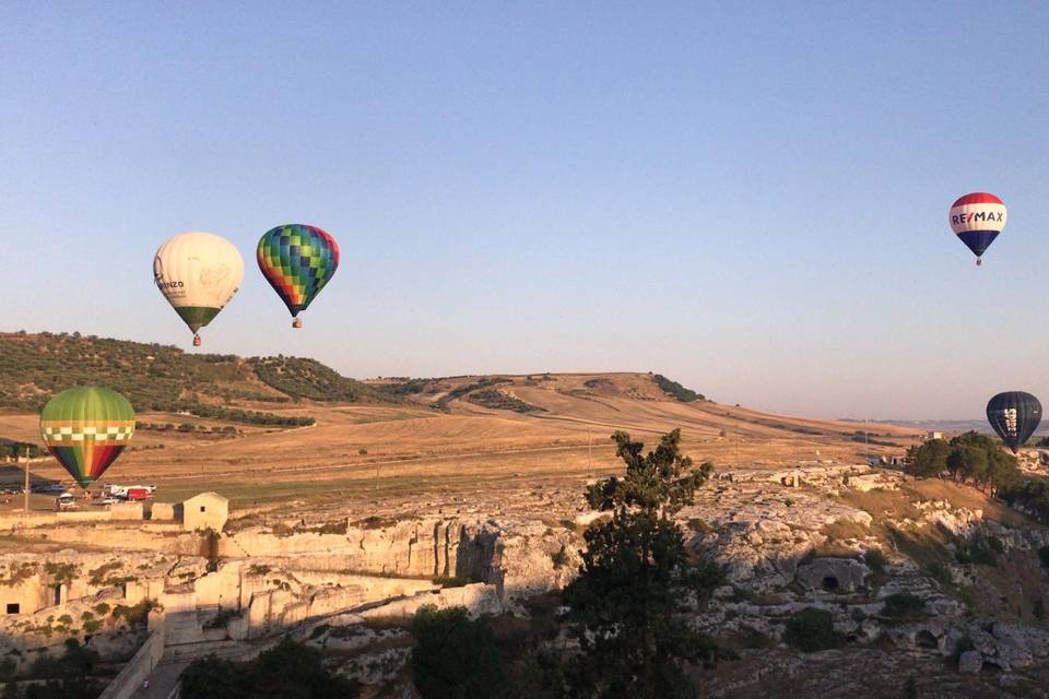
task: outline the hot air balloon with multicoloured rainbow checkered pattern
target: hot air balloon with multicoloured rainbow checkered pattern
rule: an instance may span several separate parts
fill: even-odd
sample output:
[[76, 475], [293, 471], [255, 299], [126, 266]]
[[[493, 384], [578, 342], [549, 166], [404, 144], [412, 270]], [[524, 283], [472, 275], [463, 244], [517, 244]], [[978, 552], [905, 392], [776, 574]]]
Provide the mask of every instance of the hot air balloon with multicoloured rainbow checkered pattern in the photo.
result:
[[269, 230], [259, 240], [259, 269], [288, 312], [292, 328], [302, 328], [306, 310], [339, 266], [339, 244], [316, 226], [288, 224]]

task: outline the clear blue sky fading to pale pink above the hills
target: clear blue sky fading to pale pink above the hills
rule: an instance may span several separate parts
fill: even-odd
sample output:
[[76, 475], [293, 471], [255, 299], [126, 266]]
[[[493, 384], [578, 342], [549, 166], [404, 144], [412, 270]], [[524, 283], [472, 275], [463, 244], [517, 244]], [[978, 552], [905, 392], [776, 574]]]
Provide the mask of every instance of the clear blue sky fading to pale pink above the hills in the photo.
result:
[[[0, 328], [178, 344], [152, 257], [232, 239], [211, 352], [351, 376], [655, 370], [731, 403], [1049, 399], [1049, 4], [0, 4]], [[946, 211], [999, 194], [982, 269]], [[340, 240], [293, 332], [270, 227]]]

